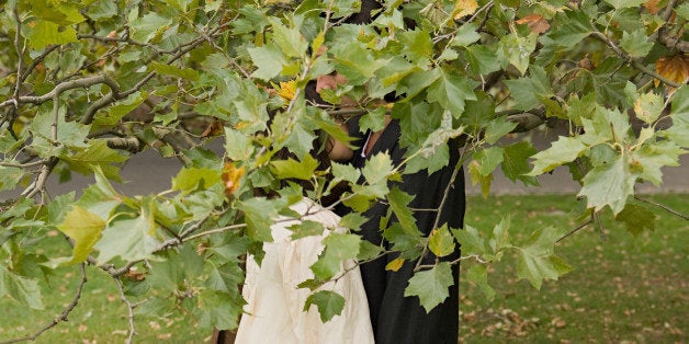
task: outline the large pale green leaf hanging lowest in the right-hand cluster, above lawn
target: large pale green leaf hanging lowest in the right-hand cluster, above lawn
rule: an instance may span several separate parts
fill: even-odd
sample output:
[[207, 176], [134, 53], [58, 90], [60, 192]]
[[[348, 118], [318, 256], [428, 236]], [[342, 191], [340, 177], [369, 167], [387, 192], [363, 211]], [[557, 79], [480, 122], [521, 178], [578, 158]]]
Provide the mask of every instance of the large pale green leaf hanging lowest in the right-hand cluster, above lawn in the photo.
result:
[[610, 206], [617, 215], [634, 194], [636, 175], [630, 172], [628, 158], [618, 156], [610, 163], [594, 168], [581, 181], [584, 186], [577, 196], [586, 196], [587, 207], [598, 211]]

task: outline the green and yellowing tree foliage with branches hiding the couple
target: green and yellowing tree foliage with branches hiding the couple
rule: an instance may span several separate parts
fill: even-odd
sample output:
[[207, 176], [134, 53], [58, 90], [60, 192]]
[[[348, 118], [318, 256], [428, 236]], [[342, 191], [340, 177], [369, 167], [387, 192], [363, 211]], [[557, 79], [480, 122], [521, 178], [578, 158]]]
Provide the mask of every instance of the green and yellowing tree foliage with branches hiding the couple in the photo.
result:
[[[242, 255], [260, 257], [273, 219], [294, 216], [289, 206], [301, 198], [284, 179], [313, 183], [314, 199], [348, 183], [340, 202], [355, 210], [305, 287], [336, 277], [342, 259], [386, 254], [357, 234], [361, 213], [385, 199], [403, 228], [386, 238], [404, 259], [461, 243], [460, 260], [477, 262], [467, 278], [486, 295], [485, 264], [506, 254], [539, 288], [571, 270], [554, 255], [566, 229], [536, 228], [517, 243], [504, 219], [423, 238], [405, 221], [410, 196], [388, 182], [447, 165], [450, 149], [462, 154], [455, 170], [464, 165], [485, 194], [498, 168], [538, 185], [566, 167], [586, 198], [583, 226], [610, 209], [639, 233], [654, 218], [634, 185], [663, 183], [660, 169], [689, 145], [689, 4], [680, 1], [385, 1], [362, 25], [347, 23], [361, 9], [352, 0], [0, 3], [0, 191], [13, 195], [0, 204], [0, 296], [31, 308], [43, 307], [38, 286], [55, 266], [88, 264], [111, 274], [125, 300], [146, 300], [126, 301], [132, 312], [178, 310], [202, 326], [234, 328]], [[347, 79], [321, 94], [332, 105], [307, 100], [308, 83], [332, 72]], [[318, 130], [347, 141], [336, 117], [361, 116], [377, 130], [386, 113], [400, 123], [402, 165], [380, 154], [361, 171], [335, 163], [331, 181], [318, 171], [308, 154]], [[500, 140], [542, 125], [568, 135], [541, 151]], [[224, 157], [204, 148], [218, 137]], [[448, 145], [456, 137], [461, 147]], [[282, 148], [296, 159], [276, 158]], [[147, 149], [184, 163], [170, 191], [117, 192], [118, 168]], [[95, 176], [79, 197], [46, 190], [50, 174], [75, 172]], [[280, 196], [255, 197], [256, 188]], [[68, 238], [71, 256], [43, 252], [52, 230]], [[294, 227], [295, 236], [321, 230]], [[459, 261], [419, 266], [406, 294], [433, 308], [447, 297], [449, 264]], [[146, 278], [132, 282], [134, 266]], [[320, 290], [308, 305], [327, 320], [341, 301]]]

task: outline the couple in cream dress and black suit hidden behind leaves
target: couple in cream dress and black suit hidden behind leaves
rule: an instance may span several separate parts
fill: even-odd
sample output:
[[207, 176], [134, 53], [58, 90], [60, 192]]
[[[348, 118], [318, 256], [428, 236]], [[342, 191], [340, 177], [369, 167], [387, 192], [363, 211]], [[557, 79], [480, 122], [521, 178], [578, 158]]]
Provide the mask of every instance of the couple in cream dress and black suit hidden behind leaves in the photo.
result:
[[[336, 77], [326, 76], [318, 80], [317, 90], [337, 87]], [[386, 118], [386, 126], [377, 133], [360, 133], [358, 118], [347, 123], [349, 135], [355, 140], [357, 151], [342, 149], [343, 145], [330, 145], [334, 160], [344, 160], [355, 167], [363, 167], [368, 157], [380, 152], [391, 156], [393, 164], [404, 160], [405, 149], [399, 147], [400, 127], [395, 119]], [[460, 157], [456, 149], [450, 149], [448, 167], [428, 174], [426, 170], [403, 174], [394, 184], [415, 196], [408, 205], [414, 211], [416, 225], [426, 237], [438, 226], [461, 228], [464, 217], [464, 179], [459, 175], [453, 185], [453, 168]], [[392, 185], [391, 185], [392, 186]], [[447, 199], [442, 200], [445, 188], [450, 187]], [[438, 209], [442, 204], [440, 211]], [[364, 240], [391, 248], [382, 238], [379, 223], [387, 214], [387, 204], [377, 202], [364, 216], [368, 221], [361, 227]], [[308, 214], [304, 219], [324, 223], [326, 228], [337, 228], [338, 215], [323, 209], [308, 199], [293, 206], [300, 214]], [[343, 211], [347, 211], [346, 209]], [[343, 215], [343, 214], [339, 214]], [[437, 220], [437, 217], [440, 217]], [[259, 267], [256, 262], [247, 262], [247, 280], [244, 296], [248, 301], [237, 332], [236, 343], [456, 343], [459, 335], [459, 266], [453, 266], [454, 284], [450, 297], [430, 312], [426, 312], [419, 299], [405, 297], [404, 290], [414, 274], [416, 262], [406, 261], [393, 272], [386, 265], [398, 254], [386, 254], [352, 268], [343, 277], [321, 287], [346, 298], [342, 313], [323, 323], [318, 312], [312, 307], [303, 311], [309, 290], [296, 288], [300, 283], [312, 278], [310, 265], [323, 250], [321, 236], [291, 240], [287, 229], [293, 222], [279, 222], [272, 227], [274, 241], [266, 243], [266, 257]], [[336, 229], [337, 231], [338, 229]], [[450, 255], [456, 259], [459, 252]], [[422, 264], [433, 264], [436, 256], [427, 253]], [[346, 262], [354, 265], [354, 262]]]

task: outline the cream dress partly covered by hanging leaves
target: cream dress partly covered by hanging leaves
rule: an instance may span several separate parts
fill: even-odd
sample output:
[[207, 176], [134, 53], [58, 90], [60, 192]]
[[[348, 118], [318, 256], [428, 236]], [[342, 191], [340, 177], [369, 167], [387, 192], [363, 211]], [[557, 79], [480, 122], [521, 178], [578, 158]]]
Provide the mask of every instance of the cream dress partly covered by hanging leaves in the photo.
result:
[[241, 316], [236, 343], [374, 343], [369, 305], [361, 282], [359, 267], [353, 267], [337, 282], [329, 282], [319, 290], [332, 290], [344, 297], [344, 309], [340, 316], [324, 323], [316, 306], [303, 311], [307, 288], [297, 285], [313, 278], [310, 271], [320, 251], [323, 239], [338, 228], [339, 217], [312, 200], [304, 199], [291, 207], [298, 214], [308, 214], [304, 219], [318, 221], [326, 228], [321, 236], [292, 240], [287, 227], [297, 220], [280, 221], [271, 227], [273, 242], [263, 244], [266, 256], [259, 266], [251, 256], [247, 259], [247, 277], [242, 296], [248, 305]]

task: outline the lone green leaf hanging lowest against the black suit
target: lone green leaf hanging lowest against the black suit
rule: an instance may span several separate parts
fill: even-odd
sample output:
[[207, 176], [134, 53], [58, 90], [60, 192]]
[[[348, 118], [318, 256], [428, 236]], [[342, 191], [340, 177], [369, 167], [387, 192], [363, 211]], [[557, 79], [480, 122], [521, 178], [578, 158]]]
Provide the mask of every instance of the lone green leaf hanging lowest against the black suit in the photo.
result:
[[405, 297], [418, 296], [428, 313], [450, 296], [448, 288], [453, 284], [450, 263], [441, 262], [430, 270], [414, 274], [405, 289]]

